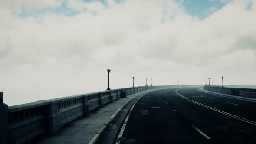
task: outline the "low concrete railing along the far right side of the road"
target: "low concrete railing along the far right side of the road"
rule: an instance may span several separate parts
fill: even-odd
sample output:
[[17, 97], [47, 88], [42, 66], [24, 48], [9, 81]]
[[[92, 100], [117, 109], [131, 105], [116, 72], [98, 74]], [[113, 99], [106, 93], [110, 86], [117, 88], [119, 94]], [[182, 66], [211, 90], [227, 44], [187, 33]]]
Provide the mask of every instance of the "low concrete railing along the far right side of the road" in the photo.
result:
[[225, 88], [225, 87], [217, 87], [217, 86], [208, 86], [205, 85], [203, 87], [205, 90], [211, 92], [219, 92], [228, 95], [236, 95], [236, 96], [243, 96], [249, 98], [256, 98], [256, 89], [250, 88]]

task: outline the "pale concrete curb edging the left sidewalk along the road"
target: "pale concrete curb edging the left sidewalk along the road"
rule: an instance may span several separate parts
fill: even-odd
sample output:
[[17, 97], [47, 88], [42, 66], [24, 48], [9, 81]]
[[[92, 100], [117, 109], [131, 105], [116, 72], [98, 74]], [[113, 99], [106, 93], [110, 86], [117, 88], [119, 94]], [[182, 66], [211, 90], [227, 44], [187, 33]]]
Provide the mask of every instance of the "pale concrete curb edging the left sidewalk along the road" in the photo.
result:
[[[159, 90], [159, 89], [155, 89], [155, 90]], [[154, 90], [149, 91], [149, 92], [153, 92], [153, 91], [154, 91]], [[135, 96], [134, 98], [136, 98], [136, 97], [138, 97], [138, 96], [146, 95], [146, 94], [149, 93], [149, 92], [144, 92], [144, 93], [142, 93], [141, 95]], [[133, 100], [134, 98], [131, 98], [131, 99], [130, 99], [129, 101], [127, 101], [123, 106], [121, 106], [121, 108], [118, 108], [118, 110], [115, 111], [115, 113], [108, 119], [108, 121], [106, 122], [106, 124], [104, 124], [104, 125], [97, 131], [97, 133], [94, 134], [94, 136], [92, 137], [92, 139], [91, 139], [87, 144], [95, 144], [95, 143], [98, 141], [100, 135], [106, 130], [107, 126], [112, 123], [112, 121], [113, 121], [113, 120], [115, 119], [115, 117], [119, 114], [119, 112], [125, 107], [125, 105], [127, 105], [128, 102], [130, 102], [130, 101]]]

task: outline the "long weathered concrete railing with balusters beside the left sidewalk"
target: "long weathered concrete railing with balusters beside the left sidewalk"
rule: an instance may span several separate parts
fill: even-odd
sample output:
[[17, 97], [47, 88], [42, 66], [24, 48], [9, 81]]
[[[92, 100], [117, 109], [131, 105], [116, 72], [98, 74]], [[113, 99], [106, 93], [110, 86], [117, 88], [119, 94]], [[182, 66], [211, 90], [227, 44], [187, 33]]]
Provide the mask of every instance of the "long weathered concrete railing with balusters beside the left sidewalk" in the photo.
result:
[[8, 105], [3, 103], [3, 92], [0, 92], [0, 144], [26, 143], [42, 135], [55, 134], [65, 124], [79, 117], [89, 115], [90, 111], [118, 100], [124, 91], [126, 95], [130, 95], [148, 89], [174, 87], [178, 86], [151, 85], [151, 87], [120, 88], [111, 91], [40, 100], [10, 106], [9, 108]]

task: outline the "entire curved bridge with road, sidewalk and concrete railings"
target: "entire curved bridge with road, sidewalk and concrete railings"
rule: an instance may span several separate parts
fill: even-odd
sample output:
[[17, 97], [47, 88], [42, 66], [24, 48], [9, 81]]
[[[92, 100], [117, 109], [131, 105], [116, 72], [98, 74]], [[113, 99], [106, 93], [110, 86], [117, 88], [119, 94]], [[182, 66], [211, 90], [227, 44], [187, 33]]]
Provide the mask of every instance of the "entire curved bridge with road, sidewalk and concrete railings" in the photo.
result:
[[0, 143], [253, 144], [255, 102], [256, 89], [211, 85], [146, 85], [10, 107], [0, 92]]

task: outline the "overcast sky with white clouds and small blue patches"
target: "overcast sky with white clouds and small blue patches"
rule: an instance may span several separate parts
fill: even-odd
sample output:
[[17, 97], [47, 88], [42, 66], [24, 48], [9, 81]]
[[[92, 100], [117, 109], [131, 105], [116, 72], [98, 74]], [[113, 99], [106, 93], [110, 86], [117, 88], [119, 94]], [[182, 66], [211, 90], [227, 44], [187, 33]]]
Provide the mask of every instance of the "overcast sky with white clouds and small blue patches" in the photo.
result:
[[17, 105], [110, 88], [256, 84], [256, 0], [0, 0], [0, 91]]

